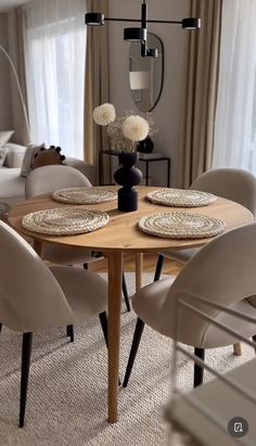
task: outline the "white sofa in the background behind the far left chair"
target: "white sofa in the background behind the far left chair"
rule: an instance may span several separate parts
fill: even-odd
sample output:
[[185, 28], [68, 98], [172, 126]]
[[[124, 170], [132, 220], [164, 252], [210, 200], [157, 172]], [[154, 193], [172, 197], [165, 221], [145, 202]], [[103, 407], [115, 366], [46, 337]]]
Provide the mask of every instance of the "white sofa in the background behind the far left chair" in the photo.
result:
[[[0, 167], [0, 203], [14, 204], [25, 199], [25, 180], [21, 177], [21, 166], [26, 148], [14, 143], [4, 144], [9, 149], [3, 166]], [[81, 160], [66, 157], [64, 164], [80, 170], [92, 184], [94, 180], [94, 166]]]

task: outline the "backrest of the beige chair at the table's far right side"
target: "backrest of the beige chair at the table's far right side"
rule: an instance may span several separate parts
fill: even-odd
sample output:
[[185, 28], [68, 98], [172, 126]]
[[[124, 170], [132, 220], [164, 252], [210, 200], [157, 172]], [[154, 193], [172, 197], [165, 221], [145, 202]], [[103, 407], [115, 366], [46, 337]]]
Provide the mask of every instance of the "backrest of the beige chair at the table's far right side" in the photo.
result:
[[207, 170], [193, 181], [190, 189], [232, 200], [256, 215], [256, 178], [246, 170], [233, 168]]

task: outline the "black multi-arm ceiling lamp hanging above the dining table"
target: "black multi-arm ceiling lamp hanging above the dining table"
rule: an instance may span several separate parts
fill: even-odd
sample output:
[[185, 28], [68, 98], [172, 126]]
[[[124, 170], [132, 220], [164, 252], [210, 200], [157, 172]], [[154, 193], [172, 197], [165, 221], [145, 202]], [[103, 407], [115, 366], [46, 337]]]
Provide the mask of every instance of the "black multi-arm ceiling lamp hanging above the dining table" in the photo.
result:
[[157, 58], [157, 49], [148, 48], [146, 46], [148, 23], [181, 25], [183, 29], [189, 29], [189, 30], [201, 28], [201, 18], [196, 18], [196, 17], [182, 18], [182, 21], [149, 20], [148, 18], [148, 4], [145, 3], [145, 0], [143, 0], [143, 3], [141, 4], [141, 18], [105, 17], [104, 14], [99, 13], [99, 12], [89, 12], [86, 14], [86, 25], [101, 26], [101, 25], [104, 25], [105, 22], [140, 23], [141, 24], [140, 27], [124, 29], [124, 40], [141, 42], [142, 58]]

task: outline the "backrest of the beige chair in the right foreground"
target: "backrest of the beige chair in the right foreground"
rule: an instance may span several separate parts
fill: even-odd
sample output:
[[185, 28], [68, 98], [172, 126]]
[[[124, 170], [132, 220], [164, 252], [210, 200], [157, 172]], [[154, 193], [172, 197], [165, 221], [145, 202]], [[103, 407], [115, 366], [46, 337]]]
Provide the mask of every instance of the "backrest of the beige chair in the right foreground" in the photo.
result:
[[[213, 323], [203, 320], [188, 308], [180, 307], [176, 334], [178, 300], [182, 297], [214, 318], [221, 319], [223, 311], [205, 306], [188, 295], [185, 297], [185, 293], [207, 298], [225, 307], [231, 307], [255, 295], [256, 224], [226, 232], [202, 247], [188, 262], [166, 295], [159, 315], [162, 332], [167, 332], [172, 339], [177, 335], [177, 340], [184, 344], [208, 346], [210, 333], [215, 331]], [[253, 306], [249, 308], [256, 314]], [[254, 329], [256, 333], [256, 324], [253, 326]]]

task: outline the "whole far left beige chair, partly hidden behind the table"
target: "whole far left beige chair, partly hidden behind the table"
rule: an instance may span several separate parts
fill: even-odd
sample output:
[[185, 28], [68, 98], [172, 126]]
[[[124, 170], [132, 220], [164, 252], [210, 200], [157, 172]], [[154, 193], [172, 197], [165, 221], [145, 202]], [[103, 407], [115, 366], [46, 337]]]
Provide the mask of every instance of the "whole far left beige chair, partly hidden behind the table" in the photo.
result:
[[[31, 170], [25, 183], [26, 199], [41, 195], [43, 193], [53, 192], [57, 189], [64, 188], [90, 188], [91, 183], [87, 177], [79, 170], [69, 166], [44, 166]], [[95, 262], [102, 258], [100, 253], [91, 253], [84, 249], [73, 246], [61, 246], [52, 243], [44, 244], [41, 257], [44, 260], [52, 262], [60, 265], [75, 265], [84, 264], [87, 268], [88, 263]], [[130, 303], [128, 298], [125, 276], [123, 275], [123, 293], [126, 302], [127, 310], [130, 310]], [[74, 340], [73, 328], [68, 329], [71, 340]]]

